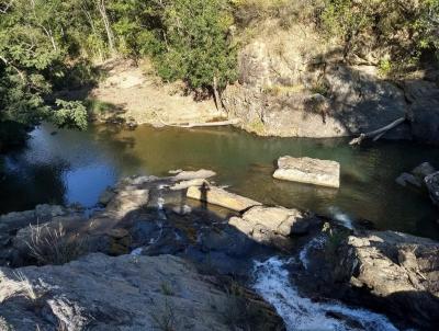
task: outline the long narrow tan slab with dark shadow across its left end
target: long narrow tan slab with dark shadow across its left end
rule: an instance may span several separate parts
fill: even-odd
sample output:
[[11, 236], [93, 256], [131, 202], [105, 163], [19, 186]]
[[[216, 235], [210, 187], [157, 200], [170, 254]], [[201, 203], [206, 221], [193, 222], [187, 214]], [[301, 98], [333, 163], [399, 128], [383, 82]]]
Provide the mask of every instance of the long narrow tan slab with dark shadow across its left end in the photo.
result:
[[229, 193], [223, 189], [204, 183], [202, 186], [191, 186], [188, 189], [187, 196], [199, 199], [204, 203], [217, 205], [232, 210], [246, 210], [252, 206], [261, 205], [260, 203], [234, 193]]

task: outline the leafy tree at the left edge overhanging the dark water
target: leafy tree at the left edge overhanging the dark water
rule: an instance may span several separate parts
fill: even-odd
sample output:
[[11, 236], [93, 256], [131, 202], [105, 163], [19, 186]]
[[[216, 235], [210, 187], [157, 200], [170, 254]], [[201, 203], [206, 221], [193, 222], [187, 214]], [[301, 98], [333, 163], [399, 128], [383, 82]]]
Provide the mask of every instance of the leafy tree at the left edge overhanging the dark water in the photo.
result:
[[61, 0], [0, 2], [0, 126], [12, 122], [32, 126], [48, 119], [85, 128], [83, 107], [50, 103], [48, 98], [53, 81], [68, 69], [75, 44], [69, 36], [74, 4]]

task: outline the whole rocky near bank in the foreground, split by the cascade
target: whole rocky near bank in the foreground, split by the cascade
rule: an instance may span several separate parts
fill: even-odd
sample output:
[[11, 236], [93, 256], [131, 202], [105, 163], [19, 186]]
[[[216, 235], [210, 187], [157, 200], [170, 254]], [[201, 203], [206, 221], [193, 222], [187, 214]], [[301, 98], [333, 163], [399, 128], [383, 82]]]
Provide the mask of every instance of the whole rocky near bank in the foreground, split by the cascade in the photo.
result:
[[[309, 327], [312, 318], [300, 316], [317, 309], [341, 330], [437, 324], [439, 243], [263, 206], [215, 185], [214, 175], [127, 178], [90, 216], [78, 206], [1, 216], [1, 322], [14, 330], [294, 330], [289, 316]], [[307, 307], [295, 311], [293, 299]]]

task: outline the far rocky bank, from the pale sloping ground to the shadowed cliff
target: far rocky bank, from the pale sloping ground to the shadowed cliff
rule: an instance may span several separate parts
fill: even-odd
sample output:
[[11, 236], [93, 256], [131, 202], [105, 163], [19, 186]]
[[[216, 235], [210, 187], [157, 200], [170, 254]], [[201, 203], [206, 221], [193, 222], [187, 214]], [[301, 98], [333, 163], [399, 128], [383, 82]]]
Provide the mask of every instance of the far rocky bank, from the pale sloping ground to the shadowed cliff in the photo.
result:
[[222, 93], [219, 109], [212, 100], [184, 94], [183, 85], [161, 83], [146, 65], [109, 62], [102, 67], [108, 78], [88, 95], [95, 104], [93, 116], [130, 126], [229, 118], [261, 136], [311, 138], [354, 136], [405, 118], [383, 138], [438, 144], [436, 71], [390, 80], [376, 62], [344, 60], [336, 45], [326, 45], [333, 48], [325, 54], [318, 47], [302, 53], [303, 44], [282, 38], [279, 47], [285, 49], [280, 53], [267, 39], [251, 41], [240, 50], [239, 80]]

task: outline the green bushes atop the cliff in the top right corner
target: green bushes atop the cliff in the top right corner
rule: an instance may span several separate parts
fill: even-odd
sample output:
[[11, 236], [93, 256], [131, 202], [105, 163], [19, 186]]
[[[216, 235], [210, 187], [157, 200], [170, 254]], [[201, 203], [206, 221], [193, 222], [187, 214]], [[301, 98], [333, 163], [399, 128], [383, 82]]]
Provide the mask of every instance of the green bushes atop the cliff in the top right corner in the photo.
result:
[[325, 0], [320, 24], [344, 38], [346, 55], [364, 45], [387, 50], [383, 69], [439, 55], [439, 0]]

